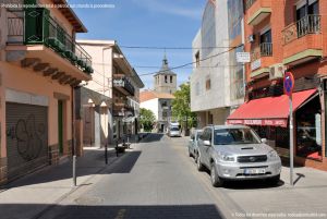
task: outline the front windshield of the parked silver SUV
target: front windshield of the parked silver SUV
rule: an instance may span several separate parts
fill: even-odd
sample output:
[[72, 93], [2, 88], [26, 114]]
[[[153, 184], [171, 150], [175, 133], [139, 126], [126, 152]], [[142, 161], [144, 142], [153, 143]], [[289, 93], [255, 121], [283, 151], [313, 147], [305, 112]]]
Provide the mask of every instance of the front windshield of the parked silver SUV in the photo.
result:
[[261, 141], [251, 129], [215, 130], [215, 145], [259, 144]]

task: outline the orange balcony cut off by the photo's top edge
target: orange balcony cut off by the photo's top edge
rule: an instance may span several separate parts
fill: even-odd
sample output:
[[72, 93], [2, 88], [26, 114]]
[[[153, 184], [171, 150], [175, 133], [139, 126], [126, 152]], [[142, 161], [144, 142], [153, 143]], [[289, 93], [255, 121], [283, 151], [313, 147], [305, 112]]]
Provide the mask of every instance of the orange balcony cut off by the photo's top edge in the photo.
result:
[[271, 0], [246, 0], [245, 9], [249, 25], [257, 25], [271, 14]]

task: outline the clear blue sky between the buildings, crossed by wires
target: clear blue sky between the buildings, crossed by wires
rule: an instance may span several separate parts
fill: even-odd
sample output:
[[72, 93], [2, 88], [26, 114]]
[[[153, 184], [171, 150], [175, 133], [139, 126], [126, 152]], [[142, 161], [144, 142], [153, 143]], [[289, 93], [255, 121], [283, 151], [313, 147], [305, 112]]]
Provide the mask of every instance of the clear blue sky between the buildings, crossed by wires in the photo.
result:
[[[74, 9], [88, 29], [80, 39], [114, 39], [120, 46], [192, 47], [206, 0], [69, 0], [70, 3], [106, 3], [112, 9]], [[159, 70], [164, 50], [122, 51], [138, 74]], [[170, 68], [192, 62], [192, 50], [167, 50]], [[156, 68], [140, 68], [156, 66]], [[178, 82], [187, 81], [192, 68], [174, 70]], [[153, 76], [142, 76], [153, 88]]]

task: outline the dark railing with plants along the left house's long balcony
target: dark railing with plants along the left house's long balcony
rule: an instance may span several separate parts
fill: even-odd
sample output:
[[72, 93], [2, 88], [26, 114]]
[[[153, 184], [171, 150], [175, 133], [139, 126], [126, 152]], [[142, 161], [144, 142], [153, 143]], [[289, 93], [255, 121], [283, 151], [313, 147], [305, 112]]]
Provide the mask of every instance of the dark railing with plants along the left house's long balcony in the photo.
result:
[[45, 13], [31, 16], [25, 12], [21, 17], [8, 17], [8, 45], [45, 45], [83, 72], [93, 73], [90, 56], [53, 19]]

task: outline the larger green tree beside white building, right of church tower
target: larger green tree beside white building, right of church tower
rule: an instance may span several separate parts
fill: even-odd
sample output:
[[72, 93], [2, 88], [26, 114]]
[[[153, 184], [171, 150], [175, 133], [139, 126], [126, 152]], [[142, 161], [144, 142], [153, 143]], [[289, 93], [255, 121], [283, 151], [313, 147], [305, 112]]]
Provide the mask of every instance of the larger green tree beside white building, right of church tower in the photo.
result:
[[196, 114], [191, 112], [191, 88], [190, 83], [180, 85], [172, 100], [172, 115], [183, 129], [196, 126]]

